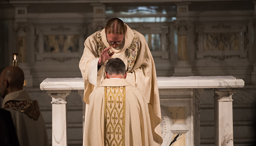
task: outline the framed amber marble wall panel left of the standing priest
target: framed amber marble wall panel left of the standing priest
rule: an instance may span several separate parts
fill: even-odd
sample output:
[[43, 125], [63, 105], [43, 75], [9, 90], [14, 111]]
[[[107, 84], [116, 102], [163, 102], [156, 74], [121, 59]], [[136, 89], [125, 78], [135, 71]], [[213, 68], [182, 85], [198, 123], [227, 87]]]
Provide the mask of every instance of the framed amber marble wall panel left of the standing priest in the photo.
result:
[[36, 60], [64, 62], [80, 59], [84, 49], [85, 28], [82, 26], [35, 26]]

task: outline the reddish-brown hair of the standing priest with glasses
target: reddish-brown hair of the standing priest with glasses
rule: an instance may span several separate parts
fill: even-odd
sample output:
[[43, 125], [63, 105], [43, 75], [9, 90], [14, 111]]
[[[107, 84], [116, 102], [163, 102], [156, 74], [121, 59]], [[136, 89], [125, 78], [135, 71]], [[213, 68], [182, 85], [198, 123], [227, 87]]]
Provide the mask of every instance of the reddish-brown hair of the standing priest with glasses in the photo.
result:
[[112, 18], [110, 19], [105, 27], [106, 34], [125, 34], [125, 24], [124, 22], [119, 18]]

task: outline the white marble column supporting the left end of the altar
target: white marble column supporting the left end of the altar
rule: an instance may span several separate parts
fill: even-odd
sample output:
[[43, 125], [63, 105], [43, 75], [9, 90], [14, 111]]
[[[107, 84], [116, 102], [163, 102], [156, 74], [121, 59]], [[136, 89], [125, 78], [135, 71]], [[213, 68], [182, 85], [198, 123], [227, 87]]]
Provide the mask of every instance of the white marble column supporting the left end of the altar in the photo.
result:
[[71, 90], [47, 90], [52, 97], [52, 146], [67, 146], [67, 96]]

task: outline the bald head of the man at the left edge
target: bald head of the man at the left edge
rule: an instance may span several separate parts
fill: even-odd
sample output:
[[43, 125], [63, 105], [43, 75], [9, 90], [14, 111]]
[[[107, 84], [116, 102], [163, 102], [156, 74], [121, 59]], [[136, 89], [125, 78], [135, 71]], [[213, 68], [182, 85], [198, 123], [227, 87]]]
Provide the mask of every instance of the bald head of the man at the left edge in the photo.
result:
[[6, 94], [22, 90], [24, 84], [24, 73], [19, 67], [5, 68], [0, 75], [1, 97]]

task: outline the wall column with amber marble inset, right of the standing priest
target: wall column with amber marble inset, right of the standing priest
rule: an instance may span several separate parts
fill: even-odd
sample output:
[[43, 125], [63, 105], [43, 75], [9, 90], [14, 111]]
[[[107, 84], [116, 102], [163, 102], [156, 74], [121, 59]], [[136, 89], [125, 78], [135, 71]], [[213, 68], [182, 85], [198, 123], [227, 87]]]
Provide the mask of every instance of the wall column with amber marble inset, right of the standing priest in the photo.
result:
[[173, 25], [177, 29], [178, 35], [178, 61], [174, 66], [172, 76], [193, 76], [191, 65], [188, 62], [187, 49], [187, 30], [191, 22], [187, 20], [178, 20]]

